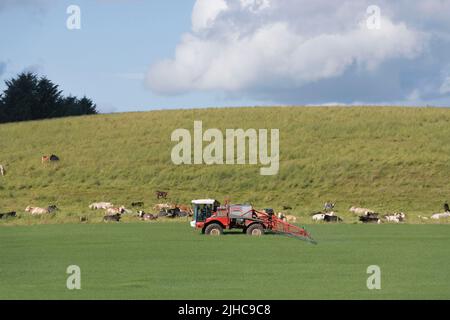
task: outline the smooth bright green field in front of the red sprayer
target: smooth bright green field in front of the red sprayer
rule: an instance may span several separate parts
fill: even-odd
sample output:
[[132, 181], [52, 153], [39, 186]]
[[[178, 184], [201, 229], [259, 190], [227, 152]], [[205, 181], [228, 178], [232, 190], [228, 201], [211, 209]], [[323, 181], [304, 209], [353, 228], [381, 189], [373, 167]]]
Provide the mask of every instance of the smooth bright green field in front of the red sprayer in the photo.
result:
[[[450, 299], [449, 225], [314, 225], [214, 238], [187, 223], [0, 230], [0, 299]], [[68, 265], [81, 290], [66, 289]], [[381, 290], [368, 290], [369, 265]]]

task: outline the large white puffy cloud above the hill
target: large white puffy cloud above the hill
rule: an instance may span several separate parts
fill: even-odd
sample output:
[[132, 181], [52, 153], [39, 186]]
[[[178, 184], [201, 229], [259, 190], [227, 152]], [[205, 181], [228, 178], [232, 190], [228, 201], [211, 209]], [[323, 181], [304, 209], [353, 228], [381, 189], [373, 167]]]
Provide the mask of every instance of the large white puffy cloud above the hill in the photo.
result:
[[[380, 30], [366, 26], [370, 4], [365, 0], [197, 0], [192, 31], [182, 37], [172, 59], [150, 68], [147, 85], [159, 94], [219, 91], [276, 101], [279, 92], [288, 91], [295, 100], [295, 92], [307, 86], [317, 90], [317, 84], [348, 73], [358, 81], [376, 73], [381, 78], [379, 72], [387, 63], [407, 63], [429, 54], [430, 33], [411, 21], [419, 19], [421, 10], [437, 14], [450, 1], [426, 0], [420, 6], [382, 1]], [[411, 97], [415, 88], [402, 87], [401, 70], [395, 75], [395, 98]]]

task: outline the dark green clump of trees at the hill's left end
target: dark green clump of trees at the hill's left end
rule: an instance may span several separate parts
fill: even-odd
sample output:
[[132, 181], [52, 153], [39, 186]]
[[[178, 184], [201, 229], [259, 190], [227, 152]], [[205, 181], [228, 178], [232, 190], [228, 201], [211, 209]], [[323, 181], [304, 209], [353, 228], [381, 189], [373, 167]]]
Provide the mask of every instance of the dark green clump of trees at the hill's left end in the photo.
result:
[[46, 77], [24, 72], [5, 81], [0, 94], [0, 123], [97, 114], [91, 99], [63, 96]]

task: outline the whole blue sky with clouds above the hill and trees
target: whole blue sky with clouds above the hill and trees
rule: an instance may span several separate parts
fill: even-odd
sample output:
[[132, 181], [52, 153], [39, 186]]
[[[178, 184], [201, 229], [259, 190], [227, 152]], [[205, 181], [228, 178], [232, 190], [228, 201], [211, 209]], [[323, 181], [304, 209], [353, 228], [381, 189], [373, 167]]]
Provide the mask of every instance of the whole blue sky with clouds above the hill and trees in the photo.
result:
[[0, 90], [32, 71], [104, 113], [450, 106], [450, 0], [0, 0], [0, 39]]

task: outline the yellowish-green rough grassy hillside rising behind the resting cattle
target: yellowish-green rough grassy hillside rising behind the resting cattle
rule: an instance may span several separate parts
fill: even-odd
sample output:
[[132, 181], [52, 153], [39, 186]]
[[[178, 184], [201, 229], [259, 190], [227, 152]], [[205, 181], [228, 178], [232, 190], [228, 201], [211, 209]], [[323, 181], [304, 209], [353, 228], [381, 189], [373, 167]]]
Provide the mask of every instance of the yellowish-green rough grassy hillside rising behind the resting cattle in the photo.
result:
[[[223, 131], [280, 129], [279, 174], [261, 176], [260, 165], [173, 165], [170, 135], [192, 130], [194, 120]], [[41, 156], [51, 153], [62, 161], [42, 165]], [[178, 203], [231, 197], [259, 208], [290, 205], [299, 216], [332, 200], [341, 213], [360, 205], [415, 217], [440, 212], [450, 200], [450, 110], [231, 108], [6, 124], [0, 164], [8, 170], [0, 177], [0, 212], [57, 204], [59, 217], [49, 222], [76, 221], [93, 201], [151, 207], [155, 190]]]

